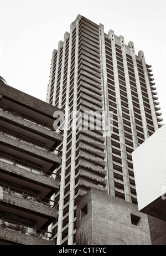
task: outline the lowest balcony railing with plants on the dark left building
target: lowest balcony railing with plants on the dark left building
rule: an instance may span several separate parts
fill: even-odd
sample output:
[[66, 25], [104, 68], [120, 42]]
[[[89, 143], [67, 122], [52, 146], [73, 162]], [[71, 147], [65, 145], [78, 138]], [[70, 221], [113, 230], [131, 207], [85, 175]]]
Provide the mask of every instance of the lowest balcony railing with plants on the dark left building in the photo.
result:
[[45, 231], [43, 229], [37, 229], [34, 227], [28, 227], [22, 223], [8, 221], [4, 218], [0, 218], [0, 227], [9, 229], [11, 231], [23, 233], [26, 235], [32, 235], [33, 237], [38, 237], [38, 238], [49, 240], [49, 241], [53, 240], [55, 235], [54, 233], [51, 233], [49, 231]]

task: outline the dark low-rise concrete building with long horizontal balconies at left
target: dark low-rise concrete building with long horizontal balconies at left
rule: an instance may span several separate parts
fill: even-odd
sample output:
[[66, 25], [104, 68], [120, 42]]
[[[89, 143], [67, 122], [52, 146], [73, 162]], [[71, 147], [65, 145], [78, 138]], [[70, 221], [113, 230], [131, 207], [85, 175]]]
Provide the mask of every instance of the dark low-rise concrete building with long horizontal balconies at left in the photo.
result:
[[55, 244], [57, 107], [0, 83], [0, 244]]

